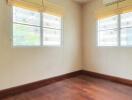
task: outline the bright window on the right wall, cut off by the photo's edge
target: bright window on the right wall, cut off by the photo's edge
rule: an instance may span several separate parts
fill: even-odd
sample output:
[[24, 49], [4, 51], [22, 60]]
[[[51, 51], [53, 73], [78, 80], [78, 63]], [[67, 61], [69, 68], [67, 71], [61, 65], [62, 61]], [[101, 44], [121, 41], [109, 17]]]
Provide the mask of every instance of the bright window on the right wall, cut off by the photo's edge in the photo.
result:
[[98, 46], [132, 46], [132, 12], [98, 20]]

